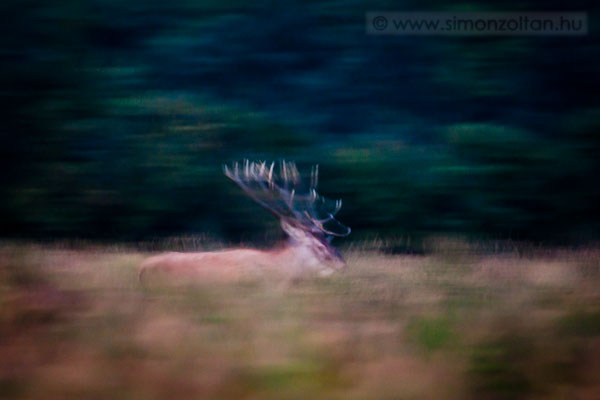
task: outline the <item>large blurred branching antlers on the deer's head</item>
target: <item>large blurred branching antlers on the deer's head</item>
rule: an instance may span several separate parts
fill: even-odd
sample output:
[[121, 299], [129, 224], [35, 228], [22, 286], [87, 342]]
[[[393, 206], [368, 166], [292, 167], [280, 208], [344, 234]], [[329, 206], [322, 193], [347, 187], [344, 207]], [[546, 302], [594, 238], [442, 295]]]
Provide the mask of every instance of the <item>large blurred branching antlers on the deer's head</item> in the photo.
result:
[[[330, 236], [347, 236], [350, 228], [334, 216], [342, 207], [342, 200], [327, 200], [317, 193], [319, 167], [312, 168], [310, 187], [305, 190], [296, 164], [282, 160], [279, 174], [275, 163], [244, 160], [241, 168], [223, 166], [225, 175], [237, 183], [246, 194], [277, 217], [304, 230]], [[329, 228], [325, 227], [328, 225]]]

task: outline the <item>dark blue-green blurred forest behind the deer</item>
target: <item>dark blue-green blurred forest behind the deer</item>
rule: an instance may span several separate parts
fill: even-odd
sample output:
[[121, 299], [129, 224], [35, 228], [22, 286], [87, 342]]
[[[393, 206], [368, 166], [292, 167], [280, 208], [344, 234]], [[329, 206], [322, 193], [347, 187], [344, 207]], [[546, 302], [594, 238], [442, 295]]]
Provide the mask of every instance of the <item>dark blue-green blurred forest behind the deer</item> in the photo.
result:
[[[0, 6], [1, 238], [264, 238], [221, 166], [285, 158], [320, 165], [347, 240], [599, 239], [593, 3], [54, 3]], [[586, 11], [590, 33], [366, 35], [374, 10]]]

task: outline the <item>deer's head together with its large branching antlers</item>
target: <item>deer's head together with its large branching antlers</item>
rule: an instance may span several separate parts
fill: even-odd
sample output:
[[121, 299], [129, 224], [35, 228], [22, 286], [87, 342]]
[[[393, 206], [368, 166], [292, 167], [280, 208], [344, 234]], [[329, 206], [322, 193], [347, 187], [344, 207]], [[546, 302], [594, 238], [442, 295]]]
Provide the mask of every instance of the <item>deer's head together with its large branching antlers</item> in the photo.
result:
[[345, 267], [344, 259], [330, 242], [334, 236], [349, 235], [350, 228], [334, 218], [342, 201], [331, 201], [317, 193], [318, 166], [312, 168], [308, 185], [293, 162], [281, 161], [279, 171], [275, 171], [274, 162], [248, 160], [223, 169], [248, 196], [279, 218], [291, 245], [299, 250], [304, 268], [328, 275]]

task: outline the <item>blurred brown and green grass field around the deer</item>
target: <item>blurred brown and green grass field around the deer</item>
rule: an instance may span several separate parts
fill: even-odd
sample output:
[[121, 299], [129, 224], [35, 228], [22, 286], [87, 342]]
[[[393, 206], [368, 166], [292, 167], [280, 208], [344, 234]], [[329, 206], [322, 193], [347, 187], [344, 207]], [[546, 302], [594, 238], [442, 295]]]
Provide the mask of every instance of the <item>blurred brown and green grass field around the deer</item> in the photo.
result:
[[147, 255], [0, 246], [0, 398], [600, 398], [598, 250], [354, 247], [285, 289], [144, 287]]

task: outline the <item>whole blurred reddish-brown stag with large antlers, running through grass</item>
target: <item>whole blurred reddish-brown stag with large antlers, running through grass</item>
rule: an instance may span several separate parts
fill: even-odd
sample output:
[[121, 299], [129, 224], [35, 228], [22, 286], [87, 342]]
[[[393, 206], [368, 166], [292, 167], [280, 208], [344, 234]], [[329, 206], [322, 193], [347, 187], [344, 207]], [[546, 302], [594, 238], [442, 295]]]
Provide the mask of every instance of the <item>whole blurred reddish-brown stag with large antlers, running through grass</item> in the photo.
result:
[[[324, 202], [314, 190], [316, 175], [310, 193], [296, 196], [296, 189], [287, 187], [289, 179], [296, 179], [296, 184], [299, 179], [296, 167], [292, 163], [283, 162], [281, 167], [285, 188], [274, 182], [273, 164], [267, 169], [264, 163], [246, 162], [245, 172], [240, 174], [237, 164], [234, 165], [234, 171], [225, 168], [225, 174], [229, 178], [255, 201], [280, 218], [281, 227], [289, 236], [286, 245], [266, 251], [240, 248], [201, 253], [160, 254], [142, 263], [139, 270], [140, 281], [147, 275], [209, 282], [263, 276], [290, 280], [306, 274], [327, 276], [345, 267], [346, 263], [340, 253], [329, 244], [327, 236], [345, 235], [349, 233], [349, 228], [346, 228], [347, 233], [336, 234], [323, 227], [323, 223], [333, 220], [333, 214], [341, 207], [341, 201], [336, 202], [335, 210], [328, 212], [325, 219], [316, 218], [314, 203], [317, 200]], [[258, 188], [252, 185], [257, 185]], [[300, 205], [297, 202], [300, 202]], [[339, 226], [343, 227], [341, 224]]]

